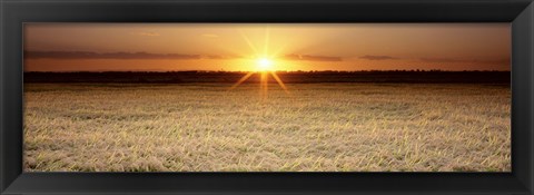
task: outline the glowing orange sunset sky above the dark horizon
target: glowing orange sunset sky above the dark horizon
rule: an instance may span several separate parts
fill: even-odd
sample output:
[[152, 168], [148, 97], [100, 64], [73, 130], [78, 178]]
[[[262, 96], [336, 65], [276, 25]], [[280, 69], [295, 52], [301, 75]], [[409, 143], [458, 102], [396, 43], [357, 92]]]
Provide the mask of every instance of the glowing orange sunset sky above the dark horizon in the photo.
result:
[[510, 70], [508, 23], [27, 23], [26, 71]]

